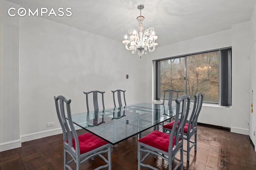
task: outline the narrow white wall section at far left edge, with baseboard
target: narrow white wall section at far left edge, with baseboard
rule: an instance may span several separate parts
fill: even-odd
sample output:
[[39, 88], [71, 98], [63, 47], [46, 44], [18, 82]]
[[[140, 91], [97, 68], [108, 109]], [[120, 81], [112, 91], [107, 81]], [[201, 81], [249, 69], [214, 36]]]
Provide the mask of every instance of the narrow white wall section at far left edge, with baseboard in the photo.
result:
[[20, 147], [19, 124], [19, 19], [6, 19], [6, 8], [16, 7], [0, 1], [0, 151]]

